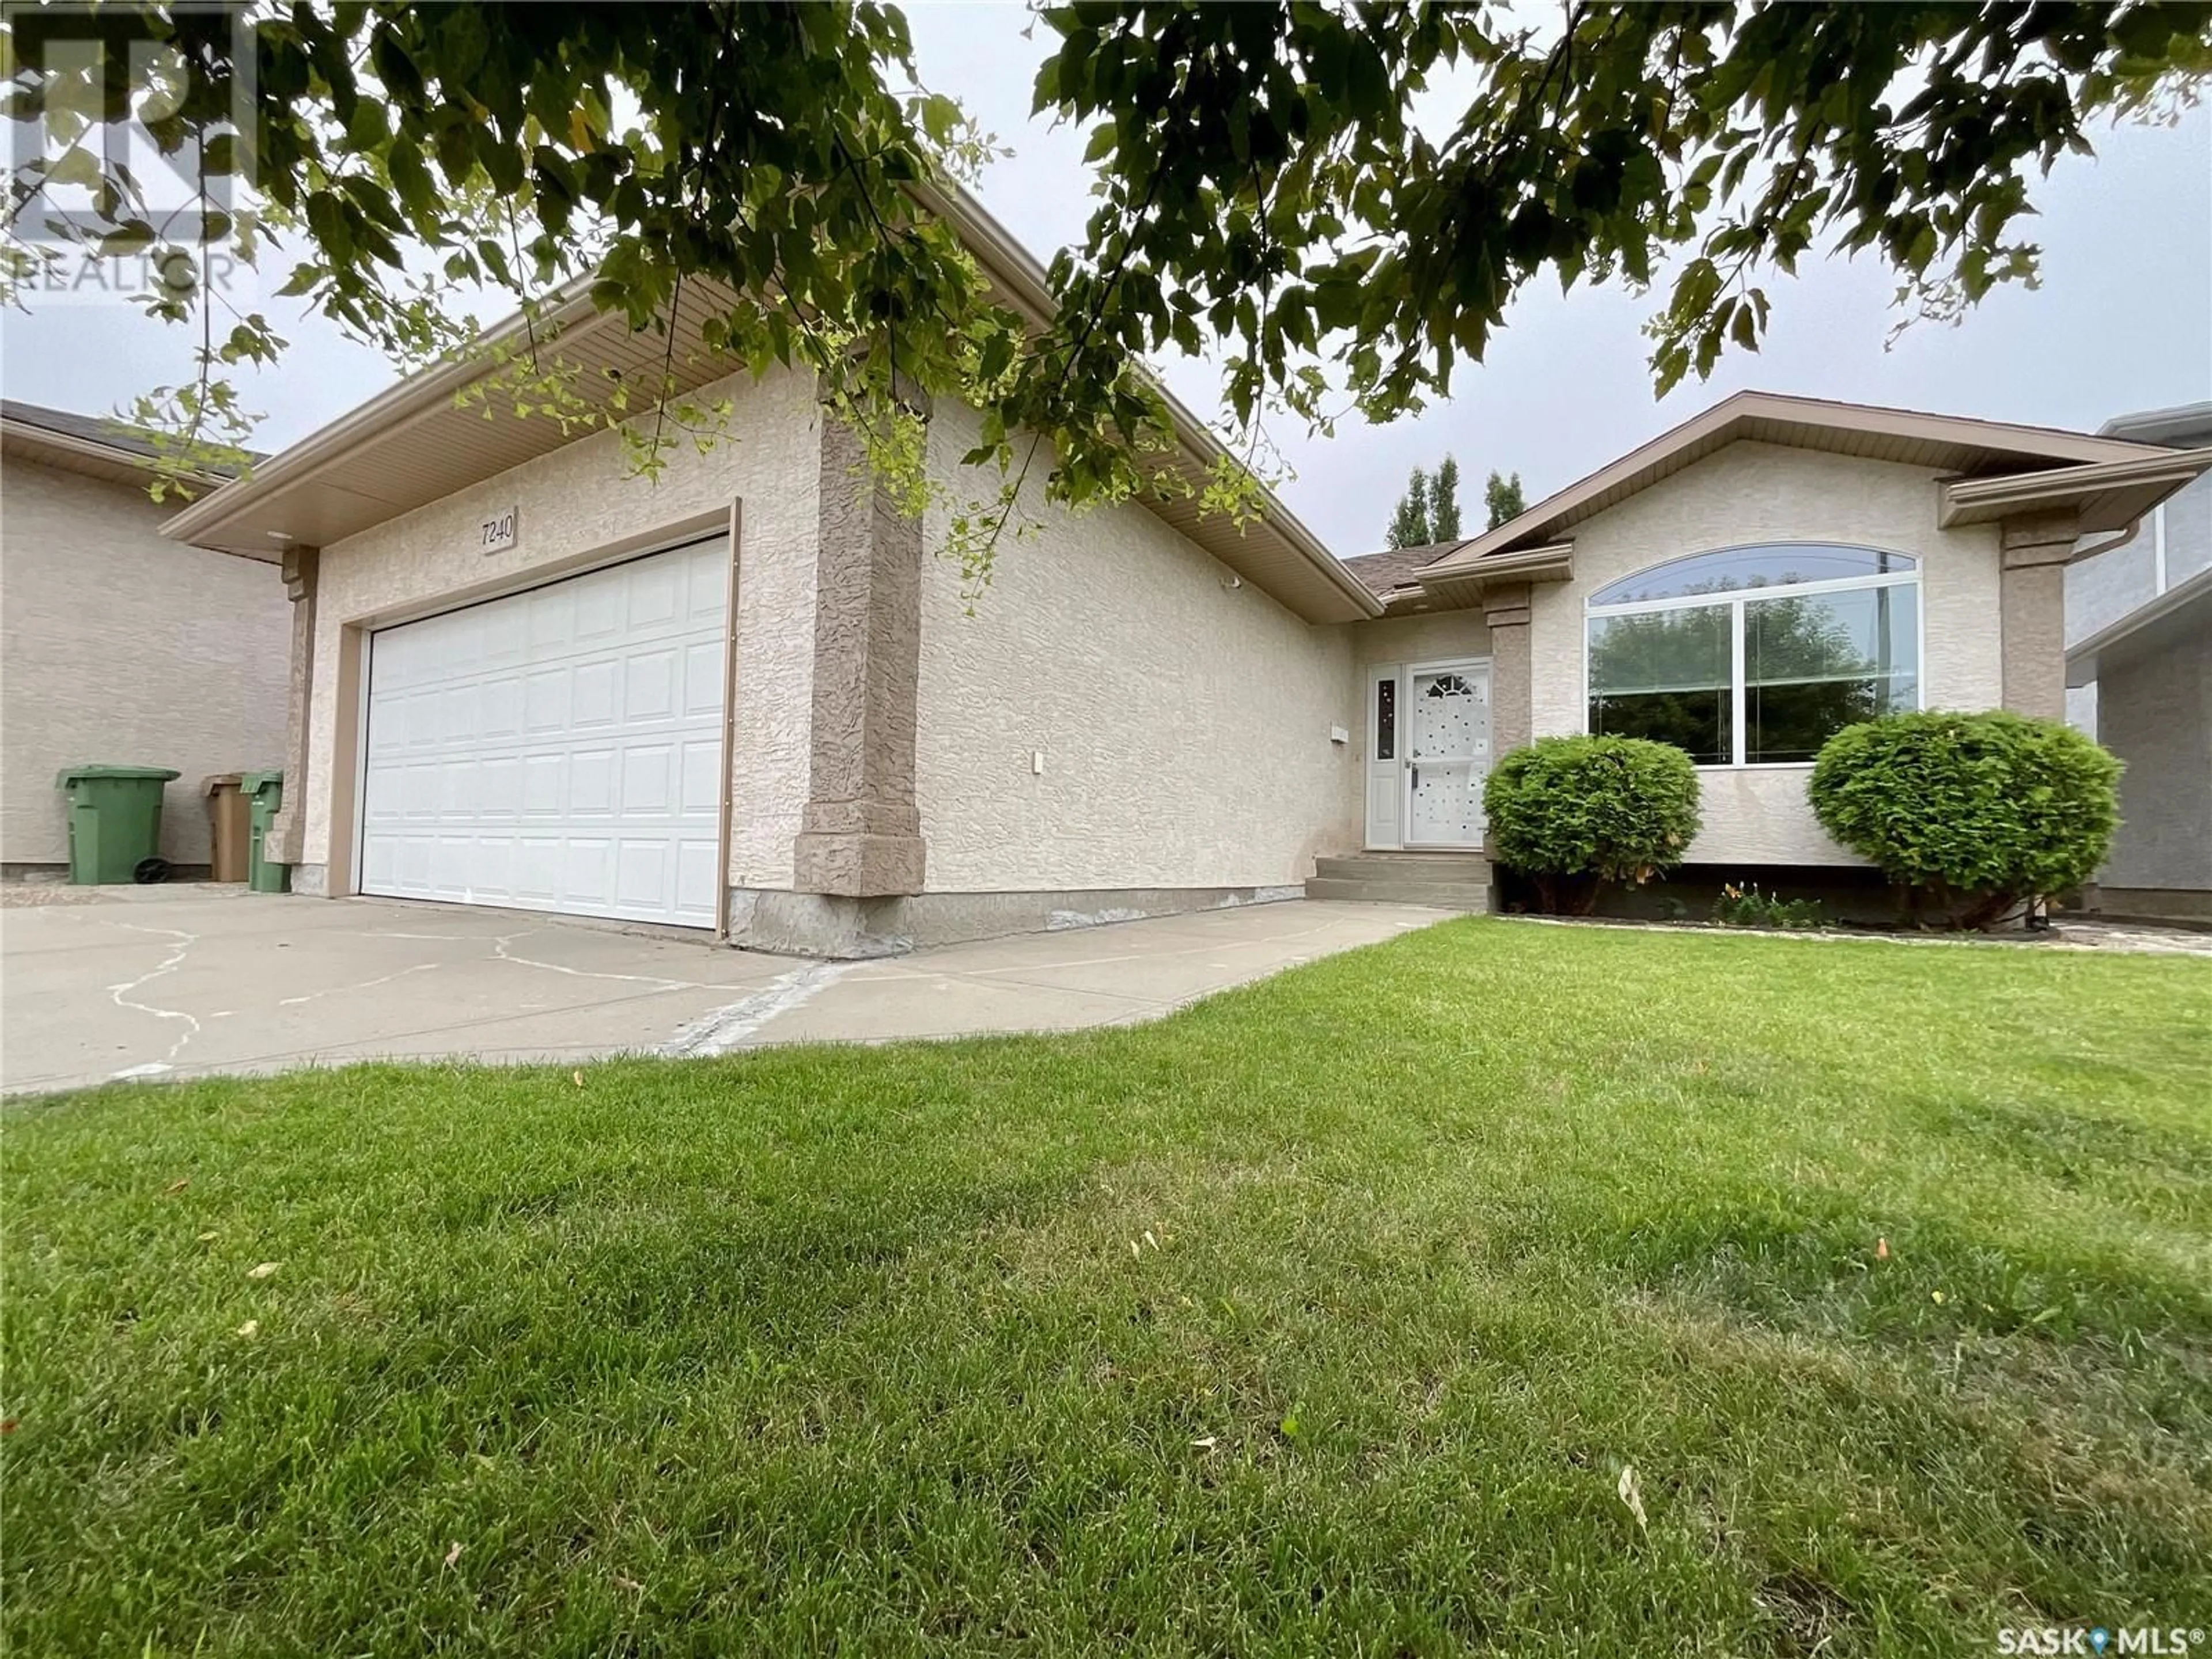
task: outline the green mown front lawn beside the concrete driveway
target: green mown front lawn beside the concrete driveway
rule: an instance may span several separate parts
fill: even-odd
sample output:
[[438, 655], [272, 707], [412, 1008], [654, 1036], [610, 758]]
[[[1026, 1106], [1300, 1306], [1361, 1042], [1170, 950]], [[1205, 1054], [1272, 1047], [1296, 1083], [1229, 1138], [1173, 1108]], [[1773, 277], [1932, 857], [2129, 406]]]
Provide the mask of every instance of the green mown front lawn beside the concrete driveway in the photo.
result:
[[2203, 1626], [2208, 1082], [2205, 960], [1464, 920], [1130, 1031], [35, 1102], [0, 1628]]

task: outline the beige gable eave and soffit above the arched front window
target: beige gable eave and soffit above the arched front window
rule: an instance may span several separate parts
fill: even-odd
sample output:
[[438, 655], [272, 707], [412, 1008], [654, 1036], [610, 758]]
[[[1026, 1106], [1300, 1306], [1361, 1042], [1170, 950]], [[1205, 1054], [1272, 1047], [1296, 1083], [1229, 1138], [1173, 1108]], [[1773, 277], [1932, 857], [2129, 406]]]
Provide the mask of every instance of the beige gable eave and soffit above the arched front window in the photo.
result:
[[[2015, 427], [2002, 420], [1936, 416], [1916, 409], [1876, 409], [1863, 403], [1790, 398], [1778, 392], [1739, 392], [1672, 431], [1632, 449], [1610, 467], [1548, 495], [1520, 518], [1478, 535], [1458, 553], [1422, 571], [1422, 586], [1500, 571], [1493, 560], [1537, 544], [1555, 544], [1586, 518], [1617, 507], [1661, 478], [1697, 465], [1732, 442], [1825, 449], [1863, 460], [1889, 460], [1958, 473], [1958, 480], [2093, 469], [2106, 462], [2170, 465], [2172, 449], [2093, 438], [2053, 427]], [[2015, 511], [2015, 509], [2006, 509]], [[1526, 580], [1526, 577], [1515, 577]]]

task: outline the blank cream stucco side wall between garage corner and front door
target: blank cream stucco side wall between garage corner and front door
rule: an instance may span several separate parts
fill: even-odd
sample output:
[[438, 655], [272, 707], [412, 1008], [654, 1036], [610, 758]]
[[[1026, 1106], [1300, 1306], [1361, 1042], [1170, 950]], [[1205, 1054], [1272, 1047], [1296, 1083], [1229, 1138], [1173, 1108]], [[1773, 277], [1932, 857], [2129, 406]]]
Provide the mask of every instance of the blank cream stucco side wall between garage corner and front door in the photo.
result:
[[[929, 465], [960, 478], [975, 414], [938, 405]], [[1314, 628], [1126, 504], [1026, 502], [1042, 533], [962, 597], [925, 526], [916, 803], [927, 891], [1272, 887], [1358, 845], [1345, 628]], [[1031, 757], [1044, 754], [1044, 772]]]

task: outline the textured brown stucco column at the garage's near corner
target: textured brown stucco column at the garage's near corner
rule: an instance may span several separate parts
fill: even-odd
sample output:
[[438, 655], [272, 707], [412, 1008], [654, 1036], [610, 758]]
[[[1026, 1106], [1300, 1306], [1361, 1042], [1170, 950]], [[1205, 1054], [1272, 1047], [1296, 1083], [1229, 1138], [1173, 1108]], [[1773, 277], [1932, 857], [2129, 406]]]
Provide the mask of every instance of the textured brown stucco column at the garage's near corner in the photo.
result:
[[843, 898], [918, 894], [922, 524], [867, 484], [860, 438], [830, 409], [821, 434], [814, 730], [807, 803], [792, 845], [794, 885]]

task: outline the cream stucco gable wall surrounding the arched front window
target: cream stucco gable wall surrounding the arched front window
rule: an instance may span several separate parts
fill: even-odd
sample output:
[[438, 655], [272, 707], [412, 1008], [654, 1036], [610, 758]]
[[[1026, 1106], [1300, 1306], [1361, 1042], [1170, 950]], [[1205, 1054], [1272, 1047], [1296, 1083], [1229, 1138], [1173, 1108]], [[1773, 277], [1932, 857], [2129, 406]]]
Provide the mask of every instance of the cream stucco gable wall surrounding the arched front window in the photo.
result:
[[[1575, 526], [1575, 580], [1531, 599], [1535, 737], [1582, 732], [1584, 604], [1635, 571], [1747, 542], [1854, 542], [1920, 564], [1927, 708], [1997, 708], [2004, 695], [1997, 529], [1936, 526], [1936, 478], [1812, 449], [1736, 442]], [[1854, 865], [1805, 801], [1809, 765], [1703, 768], [1692, 863]]]

